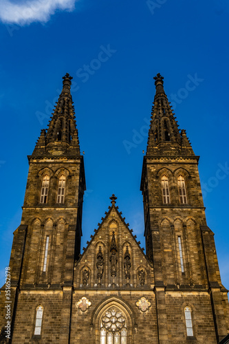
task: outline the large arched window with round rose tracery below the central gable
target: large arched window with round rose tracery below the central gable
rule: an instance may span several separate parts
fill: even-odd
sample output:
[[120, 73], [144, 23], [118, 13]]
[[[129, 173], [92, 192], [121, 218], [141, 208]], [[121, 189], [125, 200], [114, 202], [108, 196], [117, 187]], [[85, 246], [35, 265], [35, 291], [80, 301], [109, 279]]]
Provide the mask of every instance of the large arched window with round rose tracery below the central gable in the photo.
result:
[[127, 344], [127, 319], [114, 306], [102, 315], [100, 344]]

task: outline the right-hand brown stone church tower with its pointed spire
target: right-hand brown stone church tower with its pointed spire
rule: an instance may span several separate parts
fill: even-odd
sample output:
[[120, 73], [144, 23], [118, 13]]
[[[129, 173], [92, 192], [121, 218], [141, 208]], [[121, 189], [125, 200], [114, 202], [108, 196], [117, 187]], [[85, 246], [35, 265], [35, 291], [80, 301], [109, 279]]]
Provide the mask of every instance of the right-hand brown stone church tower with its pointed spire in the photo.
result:
[[[206, 224], [198, 161], [155, 76], [142, 167], [146, 256], [153, 264], [160, 343], [219, 343], [229, 330], [214, 233]], [[201, 321], [204, 322], [201, 324]], [[186, 341], [179, 336], [186, 324]], [[214, 325], [213, 325], [214, 324]], [[207, 340], [208, 338], [208, 340]], [[209, 339], [210, 338], [210, 339]], [[193, 342], [192, 342], [193, 343]]]

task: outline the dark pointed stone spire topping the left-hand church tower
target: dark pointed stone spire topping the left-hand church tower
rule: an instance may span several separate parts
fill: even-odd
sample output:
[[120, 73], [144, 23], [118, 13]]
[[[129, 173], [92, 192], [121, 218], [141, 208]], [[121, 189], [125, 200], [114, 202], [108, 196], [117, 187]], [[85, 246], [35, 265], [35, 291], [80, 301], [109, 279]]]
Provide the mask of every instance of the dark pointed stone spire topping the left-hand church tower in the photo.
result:
[[79, 155], [78, 130], [71, 95], [72, 76], [63, 76], [63, 89], [47, 131], [41, 131], [33, 155]]

